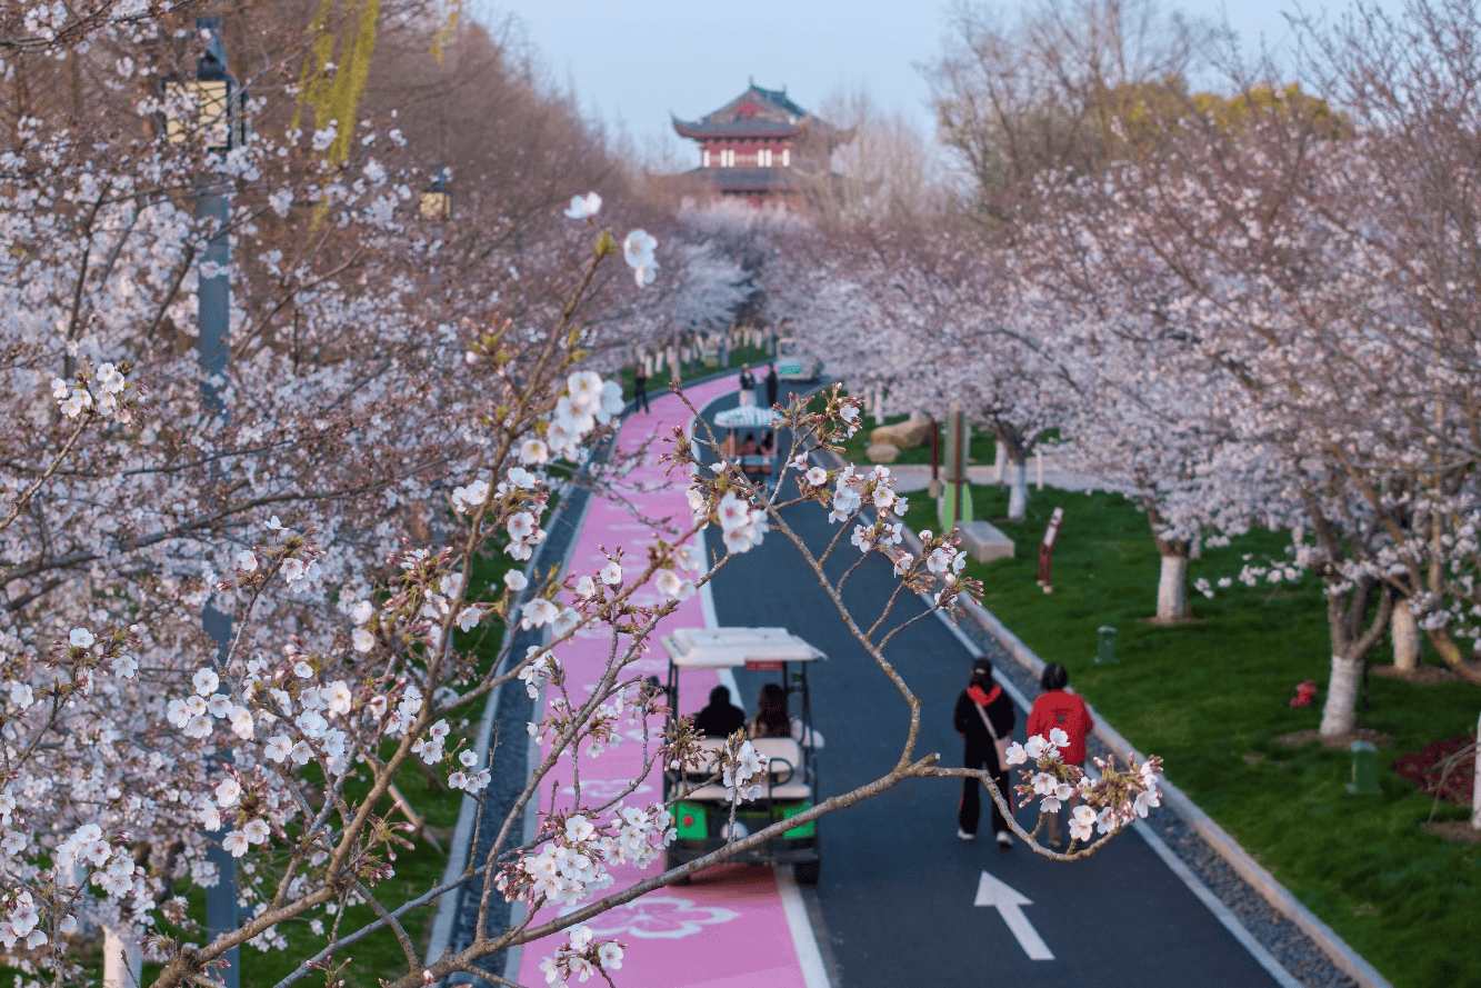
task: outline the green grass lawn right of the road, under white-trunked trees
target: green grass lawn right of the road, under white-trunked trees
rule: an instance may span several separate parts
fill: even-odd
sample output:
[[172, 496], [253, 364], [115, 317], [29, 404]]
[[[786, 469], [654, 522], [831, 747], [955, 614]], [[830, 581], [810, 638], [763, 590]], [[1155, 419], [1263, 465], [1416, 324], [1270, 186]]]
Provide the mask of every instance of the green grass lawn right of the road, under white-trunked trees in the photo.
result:
[[[1146, 517], [1120, 496], [1032, 492], [1013, 524], [1007, 490], [974, 486], [977, 517], [1017, 545], [1017, 557], [972, 563], [982, 603], [1071, 683], [1133, 744], [1167, 760], [1189, 794], [1265, 868], [1327, 921], [1397, 988], [1481, 984], [1481, 846], [1420, 830], [1432, 800], [1391, 772], [1395, 758], [1469, 733], [1481, 690], [1466, 683], [1411, 686], [1370, 677], [1363, 726], [1392, 736], [1379, 747], [1382, 795], [1355, 797], [1345, 751], [1287, 748], [1275, 738], [1314, 730], [1328, 674], [1325, 612], [1315, 581], [1303, 587], [1235, 584], [1194, 595], [1194, 621], [1160, 627], [1158, 557]], [[1054, 593], [1035, 584], [1037, 548], [1050, 511], [1065, 508], [1054, 551]], [[911, 498], [911, 527], [935, 529], [935, 505]], [[1280, 554], [1259, 532], [1206, 550], [1189, 578], [1238, 573], [1247, 553]], [[1096, 628], [1118, 630], [1120, 665], [1096, 665]], [[1388, 644], [1374, 652], [1388, 662]], [[1426, 661], [1438, 661], [1426, 653]], [[1315, 680], [1315, 705], [1291, 708], [1296, 684]], [[1167, 810], [1163, 810], [1167, 812]], [[1441, 804], [1437, 821], [1469, 816]]]

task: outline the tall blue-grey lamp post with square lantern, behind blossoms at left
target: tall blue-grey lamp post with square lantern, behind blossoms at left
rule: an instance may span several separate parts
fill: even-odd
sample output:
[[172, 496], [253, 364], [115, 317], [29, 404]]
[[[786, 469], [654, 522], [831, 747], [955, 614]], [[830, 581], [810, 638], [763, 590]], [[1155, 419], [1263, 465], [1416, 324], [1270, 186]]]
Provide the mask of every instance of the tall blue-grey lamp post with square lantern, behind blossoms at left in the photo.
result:
[[[221, 41], [221, 18], [195, 18], [198, 34], [209, 37], [206, 50], [195, 62], [194, 79], [166, 80], [166, 93], [178, 104], [194, 105], [194, 119], [172, 117], [166, 121], [170, 142], [200, 141], [213, 154], [227, 154], [246, 142], [246, 98], [227, 68], [227, 49]], [[227, 415], [221, 398], [221, 376], [227, 370], [231, 329], [231, 197], [227, 184], [212, 175], [197, 181], [195, 218], [210, 230], [206, 253], [197, 278], [197, 320], [200, 327], [198, 363], [201, 400], [212, 416]], [[216, 644], [216, 661], [224, 662], [231, 644], [231, 615], [207, 601], [201, 609], [201, 628]], [[227, 853], [219, 840], [206, 847], [206, 859], [216, 865], [218, 880], [206, 889], [206, 942], [235, 930], [237, 923], [237, 859]], [[230, 964], [221, 972], [224, 988], [238, 988], [238, 951], [227, 952]]]

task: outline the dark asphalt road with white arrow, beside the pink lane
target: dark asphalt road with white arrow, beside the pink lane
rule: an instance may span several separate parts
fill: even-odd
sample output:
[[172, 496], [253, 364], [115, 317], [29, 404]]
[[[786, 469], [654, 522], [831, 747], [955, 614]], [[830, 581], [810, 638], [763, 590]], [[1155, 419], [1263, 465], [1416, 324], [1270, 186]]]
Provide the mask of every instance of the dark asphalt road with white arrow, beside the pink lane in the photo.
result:
[[[837, 532], [816, 505], [789, 510], [788, 521], [815, 551]], [[723, 551], [714, 529], [709, 538], [711, 550]], [[847, 536], [835, 555], [832, 579], [859, 558]], [[844, 587], [856, 622], [872, 624], [893, 587], [890, 564], [880, 555], [866, 560]], [[809, 674], [813, 720], [826, 739], [819, 761], [823, 794], [869, 782], [895, 764], [909, 723], [906, 705], [849, 635], [789, 542], [772, 533], [729, 564], [715, 579], [714, 603], [721, 625], [785, 627], [828, 655]], [[905, 595], [896, 619], [923, 610], [918, 598]], [[923, 702], [917, 752], [936, 751], [942, 764], [961, 764], [951, 711], [967, 684], [970, 653], [932, 616], [900, 632], [886, 655]], [[748, 712], [766, 675], [736, 675]], [[1019, 711], [1013, 733], [1020, 741], [1025, 718]], [[1134, 832], [1089, 861], [1052, 862], [1022, 843], [998, 847], [986, 819], [982, 837], [958, 840], [958, 794], [955, 779], [914, 779], [819, 822], [822, 881], [815, 902], [823, 929], [816, 932], [834, 988], [1080, 979], [1148, 988], [1275, 984]], [[1019, 822], [1032, 824], [1026, 812]], [[974, 905], [983, 872], [1028, 901], [1016, 907], [1020, 920], [1012, 915], [1014, 907]], [[1032, 933], [1016, 936], [1010, 920]], [[1043, 949], [1034, 948], [1034, 933]], [[1029, 951], [1053, 958], [1032, 960]]]

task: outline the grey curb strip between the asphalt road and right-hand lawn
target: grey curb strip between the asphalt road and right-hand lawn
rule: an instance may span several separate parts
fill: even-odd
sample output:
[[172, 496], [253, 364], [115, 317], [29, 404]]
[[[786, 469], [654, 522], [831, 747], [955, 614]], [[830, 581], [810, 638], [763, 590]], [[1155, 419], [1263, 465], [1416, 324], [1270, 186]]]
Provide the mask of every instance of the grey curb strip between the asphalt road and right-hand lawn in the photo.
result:
[[[816, 453], [818, 450], [815, 450]], [[834, 459], [834, 465], [841, 467], [843, 458], [837, 455], [829, 455]], [[908, 527], [902, 529], [905, 538], [905, 547], [912, 554], [920, 554], [921, 541]], [[1032, 649], [1029, 649], [1023, 641], [1013, 634], [1007, 625], [998, 621], [997, 615], [979, 604], [977, 601], [963, 595], [958, 597], [963, 604], [963, 610], [967, 616], [974, 621], [983, 631], [986, 631], [992, 638], [1003, 646], [1003, 649], [1013, 656], [1013, 659], [1028, 668], [1034, 675], [1041, 675], [1044, 671], [1044, 661], [1038, 658]], [[1108, 748], [1126, 757], [1127, 754], [1134, 754], [1140, 757], [1140, 751], [1131, 745], [1126, 738], [1121, 736], [1118, 730], [1111, 727], [1106, 718], [1096, 712], [1090, 704], [1090, 715], [1096, 721], [1094, 735]], [[1244, 847], [1240, 846], [1234, 837], [1229, 835], [1219, 824], [1213, 821], [1204, 810], [1201, 810], [1188, 795], [1179, 790], [1176, 785], [1167, 781], [1164, 775], [1158, 788], [1163, 791], [1163, 803], [1170, 810], [1173, 810], [1188, 827], [1198, 834], [1200, 838], [1208, 847], [1223, 858], [1235, 874], [1240, 875], [1262, 899], [1265, 899], [1271, 908], [1284, 915], [1287, 920], [1296, 924], [1312, 944], [1315, 944], [1327, 960], [1331, 961], [1337, 970], [1352, 978], [1361, 988], [1394, 988], [1383, 975], [1377, 972], [1373, 964], [1370, 964], [1361, 954], [1358, 954], [1352, 947], [1343, 941], [1336, 930], [1321, 921], [1311, 909], [1308, 909], [1302, 902], [1293, 896], [1281, 883], [1275, 880], [1269, 871], [1266, 871], [1254, 858], [1250, 856]]]

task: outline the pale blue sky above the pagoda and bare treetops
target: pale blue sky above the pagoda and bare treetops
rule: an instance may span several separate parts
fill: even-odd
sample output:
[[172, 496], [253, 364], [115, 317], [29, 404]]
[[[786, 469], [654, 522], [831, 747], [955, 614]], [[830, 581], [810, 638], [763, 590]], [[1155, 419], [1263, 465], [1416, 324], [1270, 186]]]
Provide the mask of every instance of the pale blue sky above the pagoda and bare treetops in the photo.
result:
[[[1012, 9], [1010, 4], [997, 4]], [[1288, 40], [1281, 16], [1294, 0], [1183, 0], [1189, 16], [1228, 19], [1246, 49]], [[1308, 0], [1305, 9], [1323, 4]], [[1382, 0], [1397, 9], [1400, 0]], [[1346, 3], [1325, 4], [1328, 13]], [[549, 79], [575, 90], [584, 113], [625, 132], [649, 163], [681, 167], [698, 151], [669, 114], [695, 120], [739, 96], [754, 77], [816, 110], [831, 95], [863, 90], [930, 132], [920, 67], [943, 50], [942, 0], [475, 0], [489, 22], [512, 15]]]

